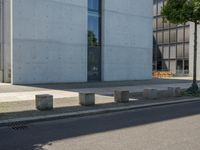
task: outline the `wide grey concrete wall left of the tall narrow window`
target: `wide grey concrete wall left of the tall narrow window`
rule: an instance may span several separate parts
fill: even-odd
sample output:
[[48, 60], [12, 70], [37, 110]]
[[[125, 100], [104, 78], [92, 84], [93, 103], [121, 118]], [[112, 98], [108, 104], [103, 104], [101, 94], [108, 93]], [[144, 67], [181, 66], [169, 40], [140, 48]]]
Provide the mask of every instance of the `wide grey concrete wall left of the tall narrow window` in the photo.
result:
[[13, 83], [87, 81], [87, 1], [13, 1]]

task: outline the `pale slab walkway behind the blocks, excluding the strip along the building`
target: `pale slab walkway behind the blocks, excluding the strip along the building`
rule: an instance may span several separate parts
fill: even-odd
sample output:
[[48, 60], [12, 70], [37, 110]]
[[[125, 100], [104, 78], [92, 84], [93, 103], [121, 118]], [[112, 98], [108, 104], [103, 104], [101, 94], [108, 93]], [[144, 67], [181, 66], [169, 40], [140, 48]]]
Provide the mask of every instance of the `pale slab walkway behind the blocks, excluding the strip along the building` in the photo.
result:
[[[9, 85], [6, 85], [9, 86]], [[10, 85], [14, 88], [12, 85]], [[191, 83], [171, 83], [171, 84], [146, 84], [146, 85], [133, 85], [133, 86], [116, 86], [116, 87], [98, 87], [98, 88], [75, 88], [75, 89], [65, 89], [61, 87], [58, 89], [40, 89], [33, 88], [32, 91], [21, 90], [17, 92], [0, 92], [0, 102], [12, 102], [12, 101], [24, 101], [33, 100], [35, 95], [38, 94], [50, 94], [54, 98], [68, 98], [77, 97], [79, 92], [96, 93], [100, 95], [113, 95], [114, 91], [130, 91], [130, 92], [142, 92], [144, 89], [157, 89], [157, 90], [167, 90], [168, 87], [181, 87], [182, 89], [187, 89], [191, 86]], [[2, 88], [2, 87], [1, 87]], [[15, 87], [16, 90], [18, 87]]]

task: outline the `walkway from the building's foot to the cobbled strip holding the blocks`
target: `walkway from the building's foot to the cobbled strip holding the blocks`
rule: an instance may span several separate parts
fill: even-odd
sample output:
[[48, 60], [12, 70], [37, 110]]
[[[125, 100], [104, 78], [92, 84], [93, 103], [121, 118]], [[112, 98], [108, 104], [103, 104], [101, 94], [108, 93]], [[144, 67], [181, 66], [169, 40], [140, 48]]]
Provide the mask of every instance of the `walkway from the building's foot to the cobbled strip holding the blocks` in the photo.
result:
[[[128, 86], [126, 86], [128, 85]], [[142, 92], [144, 89], [153, 88], [165, 90], [168, 87], [190, 87], [190, 80], [144, 80], [130, 82], [106, 82], [88, 84], [53, 84], [16, 86], [0, 84], [0, 102], [34, 100], [37, 94], [51, 94], [54, 98], [77, 97], [79, 92], [93, 92], [99, 95], [112, 95], [115, 90], [128, 90], [130, 92]], [[79, 88], [81, 87], [81, 88]], [[88, 88], [89, 87], [89, 88]]]

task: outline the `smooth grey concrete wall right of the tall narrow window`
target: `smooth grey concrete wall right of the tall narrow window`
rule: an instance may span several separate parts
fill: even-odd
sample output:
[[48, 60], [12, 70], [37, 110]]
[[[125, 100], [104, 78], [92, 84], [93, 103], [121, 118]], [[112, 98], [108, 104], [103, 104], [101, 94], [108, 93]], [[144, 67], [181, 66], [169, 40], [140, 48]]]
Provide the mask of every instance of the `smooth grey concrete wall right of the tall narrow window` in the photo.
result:
[[103, 80], [152, 78], [153, 1], [108, 0], [103, 11]]

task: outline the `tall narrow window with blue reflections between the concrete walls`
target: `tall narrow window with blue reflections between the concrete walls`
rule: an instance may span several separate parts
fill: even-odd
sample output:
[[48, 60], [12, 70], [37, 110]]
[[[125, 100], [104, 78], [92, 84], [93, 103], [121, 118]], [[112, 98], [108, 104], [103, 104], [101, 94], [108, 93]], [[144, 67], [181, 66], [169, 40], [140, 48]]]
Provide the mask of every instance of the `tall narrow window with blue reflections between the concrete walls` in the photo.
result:
[[101, 0], [88, 0], [88, 81], [101, 81]]

